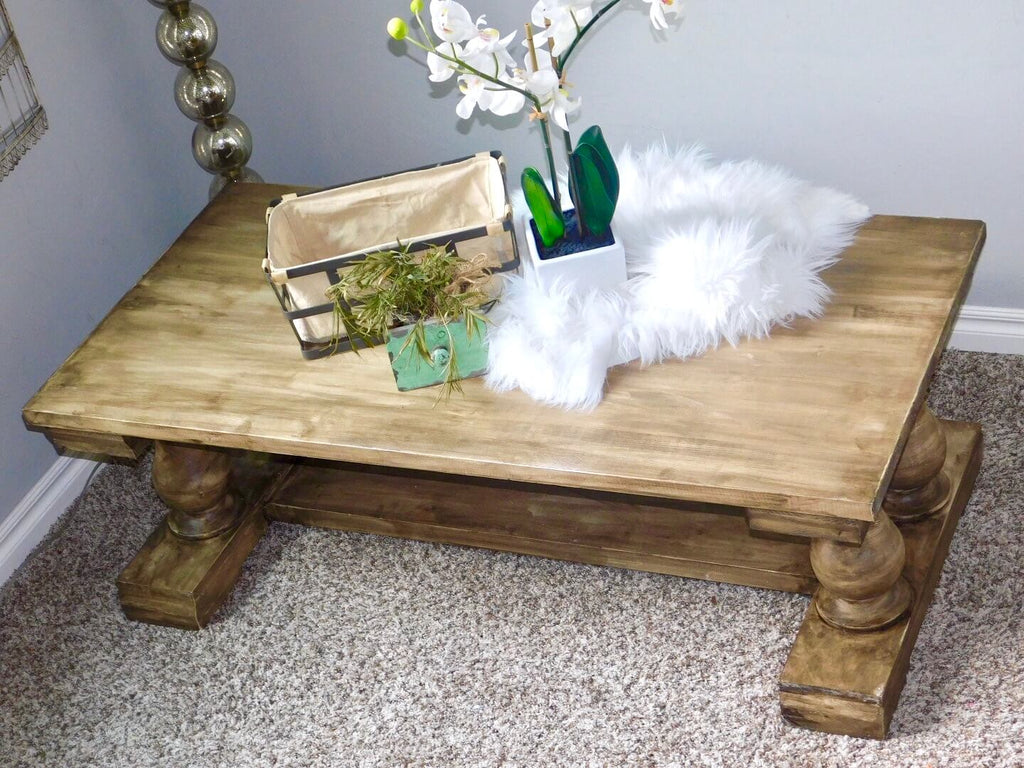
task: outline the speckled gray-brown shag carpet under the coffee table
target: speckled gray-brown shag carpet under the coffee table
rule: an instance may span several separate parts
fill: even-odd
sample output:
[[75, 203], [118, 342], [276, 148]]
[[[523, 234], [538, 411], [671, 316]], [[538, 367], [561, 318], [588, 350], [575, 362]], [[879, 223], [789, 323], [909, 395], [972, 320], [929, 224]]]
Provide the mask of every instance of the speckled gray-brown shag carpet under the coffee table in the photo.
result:
[[0, 765], [1024, 766], [1024, 357], [931, 399], [986, 456], [888, 741], [779, 717], [795, 595], [274, 524], [207, 630], [131, 624], [143, 461], [0, 591]]

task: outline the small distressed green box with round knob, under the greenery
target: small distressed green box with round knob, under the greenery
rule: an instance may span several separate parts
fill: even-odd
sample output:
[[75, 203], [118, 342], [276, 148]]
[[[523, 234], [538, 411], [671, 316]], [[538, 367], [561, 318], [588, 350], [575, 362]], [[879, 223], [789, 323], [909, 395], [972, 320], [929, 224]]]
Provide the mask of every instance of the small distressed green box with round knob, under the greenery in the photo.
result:
[[429, 360], [424, 359], [415, 342], [406, 345], [413, 326], [392, 329], [388, 335], [387, 353], [391, 358], [391, 370], [398, 389], [406, 392], [443, 384], [447, 380], [453, 347], [457, 364], [453, 380], [482, 376], [487, 370], [487, 332], [485, 324], [480, 321], [474, 323], [473, 336], [470, 338], [465, 321], [449, 323], [446, 327], [440, 323], [428, 322], [426, 337], [427, 349], [430, 350]]

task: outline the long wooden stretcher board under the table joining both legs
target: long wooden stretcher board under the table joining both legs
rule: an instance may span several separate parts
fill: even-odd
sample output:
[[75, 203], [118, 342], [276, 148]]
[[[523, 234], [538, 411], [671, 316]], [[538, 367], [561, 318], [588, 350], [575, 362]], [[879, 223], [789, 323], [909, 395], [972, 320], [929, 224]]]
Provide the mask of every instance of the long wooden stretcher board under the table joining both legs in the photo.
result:
[[402, 470], [301, 466], [271, 520], [519, 552], [810, 594], [807, 542], [750, 535], [741, 510], [460, 480]]

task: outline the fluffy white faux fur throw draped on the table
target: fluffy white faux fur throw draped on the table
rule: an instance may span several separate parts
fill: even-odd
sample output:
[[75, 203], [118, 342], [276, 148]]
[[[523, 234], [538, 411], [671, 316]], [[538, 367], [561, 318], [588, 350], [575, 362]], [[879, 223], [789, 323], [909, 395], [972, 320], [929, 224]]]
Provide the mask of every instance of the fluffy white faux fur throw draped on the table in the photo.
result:
[[868, 217], [853, 198], [699, 147], [627, 147], [612, 226], [629, 279], [617, 291], [508, 279], [488, 332], [488, 386], [567, 409], [601, 400], [607, 369], [690, 357], [766, 336], [828, 298], [818, 276]]

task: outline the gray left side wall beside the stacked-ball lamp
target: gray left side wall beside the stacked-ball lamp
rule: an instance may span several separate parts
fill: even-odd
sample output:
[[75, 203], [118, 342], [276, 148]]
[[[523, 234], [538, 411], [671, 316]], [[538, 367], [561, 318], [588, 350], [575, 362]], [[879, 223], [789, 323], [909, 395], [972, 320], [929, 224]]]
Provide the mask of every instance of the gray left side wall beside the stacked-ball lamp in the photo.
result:
[[206, 202], [144, 0], [6, 0], [49, 130], [0, 181], [0, 519], [56, 455], [25, 402]]

